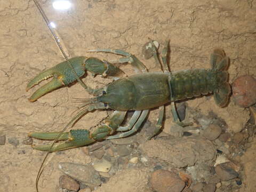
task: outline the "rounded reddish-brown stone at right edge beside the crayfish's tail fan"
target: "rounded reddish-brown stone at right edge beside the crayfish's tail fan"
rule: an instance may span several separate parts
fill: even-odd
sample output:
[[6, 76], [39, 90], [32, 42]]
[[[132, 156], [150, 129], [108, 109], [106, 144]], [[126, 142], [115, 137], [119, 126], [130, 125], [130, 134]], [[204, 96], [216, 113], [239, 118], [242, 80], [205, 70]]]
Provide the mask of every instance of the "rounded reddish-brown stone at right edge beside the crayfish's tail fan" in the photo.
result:
[[256, 79], [250, 75], [236, 78], [232, 84], [234, 102], [240, 107], [256, 103]]

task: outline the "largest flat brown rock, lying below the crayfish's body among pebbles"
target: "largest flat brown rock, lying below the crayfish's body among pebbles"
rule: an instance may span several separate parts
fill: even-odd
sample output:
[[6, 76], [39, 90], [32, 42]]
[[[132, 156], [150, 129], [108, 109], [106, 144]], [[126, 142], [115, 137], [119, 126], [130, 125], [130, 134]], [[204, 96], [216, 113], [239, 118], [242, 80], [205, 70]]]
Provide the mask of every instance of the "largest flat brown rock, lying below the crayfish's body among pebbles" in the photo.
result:
[[159, 158], [176, 167], [210, 164], [217, 153], [215, 146], [201, 137], [165, 137], [150, 140], [139, 146], [149, 157]]

